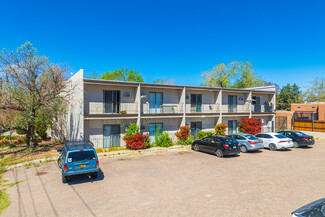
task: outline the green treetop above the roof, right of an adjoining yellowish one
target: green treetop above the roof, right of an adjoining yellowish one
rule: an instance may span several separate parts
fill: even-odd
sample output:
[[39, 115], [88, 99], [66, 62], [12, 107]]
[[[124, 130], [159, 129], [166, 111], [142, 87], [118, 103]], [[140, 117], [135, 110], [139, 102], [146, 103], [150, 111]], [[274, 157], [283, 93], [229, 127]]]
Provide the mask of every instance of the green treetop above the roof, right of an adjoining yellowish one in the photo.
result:
[[239, 78], [234, 83], [234, 88], [258, 87], [266, 84], [261, 77], [256, 75], [252, 63], [248, 61], [239, 62], [237, 67], [237, 74]]

